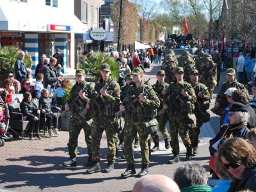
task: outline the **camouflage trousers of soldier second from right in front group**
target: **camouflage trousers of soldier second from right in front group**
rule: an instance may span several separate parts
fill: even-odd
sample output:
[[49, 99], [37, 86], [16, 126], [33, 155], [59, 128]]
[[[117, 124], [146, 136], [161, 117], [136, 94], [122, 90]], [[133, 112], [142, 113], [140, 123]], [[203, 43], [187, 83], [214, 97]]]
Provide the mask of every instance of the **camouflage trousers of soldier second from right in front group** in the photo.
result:
[[191, 147], [191, 141], [188, 136], [188, 125], [186, 118], [175, 118], [175, 116], [170, 116], [170, 134], [171, 134], [171, 147], [173, 154], [179, 154], [180, 147], [179, 147], [179, 138], [183, 141], [183, 144], [186, 148]]

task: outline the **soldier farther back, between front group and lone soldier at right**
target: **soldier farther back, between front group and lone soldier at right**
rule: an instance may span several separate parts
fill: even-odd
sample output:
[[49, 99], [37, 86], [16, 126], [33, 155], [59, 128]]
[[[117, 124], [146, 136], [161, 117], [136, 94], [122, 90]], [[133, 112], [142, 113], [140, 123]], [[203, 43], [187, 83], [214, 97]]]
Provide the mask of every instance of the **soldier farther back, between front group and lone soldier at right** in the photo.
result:
[[217, 84], [217, 67], [213, 63], [211, 55], [208, 55], [205, 60], [205, 64], [199, 70], [199, 82], [205, 84], [209, 89], [209, 93], [212, 98], [212, 92]]

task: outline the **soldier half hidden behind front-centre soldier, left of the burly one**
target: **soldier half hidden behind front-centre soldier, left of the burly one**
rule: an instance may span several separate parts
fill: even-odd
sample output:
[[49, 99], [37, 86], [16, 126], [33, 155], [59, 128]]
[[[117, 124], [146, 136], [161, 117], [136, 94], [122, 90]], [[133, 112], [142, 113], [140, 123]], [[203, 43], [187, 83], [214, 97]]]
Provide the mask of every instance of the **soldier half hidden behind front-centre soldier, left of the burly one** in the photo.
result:
[[[156, 84], [153, 85], [154, 91], [157, 94], [157, 97], [159, 98], [159, 100], [161, 101], [161, 104], [159, 106], [159, 108], [157, 108], [157, 112], [161, 111], [161, 109], [163, 109], [163, 97], [164, 95], [166, 95], [166, 90], [169, 86], [168, 83], [164, 83], [164, 70], [159, 70], [157, 71], [157, 82]], [[170, 140], [169, 140], [169, 134], [168, 131], [166, 129], [166, 124], [168, 121], [168, 115], [167, 113], [163, 113], [163, 115], [157, 115], [156, 116], [157, 122], [159, 123], [159, 129], [161, 131], [162, 137], [164, 139], [164, 143], [165, 143], [165, 148], [168, 149], [170, 148]], [[152, 135], [151, 135], [152, 136]], [[157, 132], [157, 135], [154, 137], [152, 136], [152, 139], [155, 143], [154, 147], [152, 148], [151, 152], [156, 152], [157, 150], [159, 150], [159, 135]]]

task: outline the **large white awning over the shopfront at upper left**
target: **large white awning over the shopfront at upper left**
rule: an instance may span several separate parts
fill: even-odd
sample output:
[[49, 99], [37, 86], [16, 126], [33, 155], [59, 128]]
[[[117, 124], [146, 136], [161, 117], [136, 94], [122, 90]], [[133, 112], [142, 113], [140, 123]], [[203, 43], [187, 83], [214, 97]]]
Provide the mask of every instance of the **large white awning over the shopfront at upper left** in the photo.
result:
[[[15, 10], [15, 11], [13, 11]], [[74, 12], [63, 12], [50, 6], [33, 6], [17, 1], [0, 1], [1, 31], [38, 31], [47, 32], [49, 26], [59, 26], [58, 33], [85, 33], [86, 26]], [[68, 30], [61, 31], [61, 26]]]

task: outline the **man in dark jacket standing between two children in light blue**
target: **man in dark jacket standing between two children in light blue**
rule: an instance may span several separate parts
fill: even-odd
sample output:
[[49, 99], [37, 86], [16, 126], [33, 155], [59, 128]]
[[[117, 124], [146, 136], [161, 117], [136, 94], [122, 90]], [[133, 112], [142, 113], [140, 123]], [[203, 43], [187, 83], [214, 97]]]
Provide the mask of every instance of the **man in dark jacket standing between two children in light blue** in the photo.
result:
[[51, 86], [50, 95], [53, 95], [56, 88], [60, 86], [60, 77], [58, 77], [58, 72], [55, 70], [54, 66], [56, 65], [57, 59], [52, 57], [50, 63], [47, 67], [44, 67], [44, 83], [45, 88], [48, 85]]

